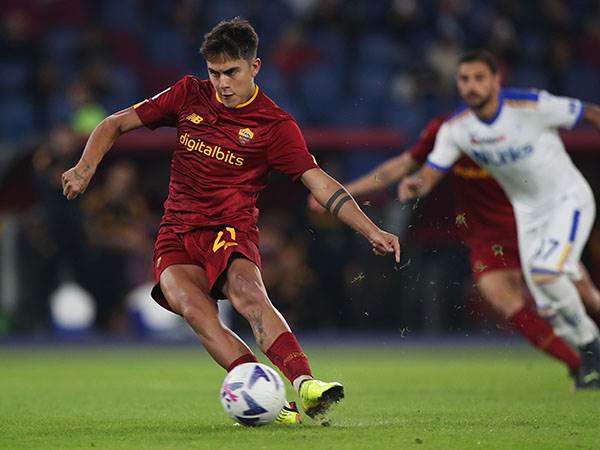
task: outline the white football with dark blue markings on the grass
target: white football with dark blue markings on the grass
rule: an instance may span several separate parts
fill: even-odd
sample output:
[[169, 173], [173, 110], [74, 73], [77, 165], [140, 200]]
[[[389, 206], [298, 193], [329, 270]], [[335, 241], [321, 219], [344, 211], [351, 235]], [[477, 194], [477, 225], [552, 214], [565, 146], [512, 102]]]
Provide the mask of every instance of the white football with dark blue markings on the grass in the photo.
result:
[[223, 381], [221, 404], [229, 417], [242, 425], [266, 425], [285, 405], [285, 386], [269, 366], [240, 364]]

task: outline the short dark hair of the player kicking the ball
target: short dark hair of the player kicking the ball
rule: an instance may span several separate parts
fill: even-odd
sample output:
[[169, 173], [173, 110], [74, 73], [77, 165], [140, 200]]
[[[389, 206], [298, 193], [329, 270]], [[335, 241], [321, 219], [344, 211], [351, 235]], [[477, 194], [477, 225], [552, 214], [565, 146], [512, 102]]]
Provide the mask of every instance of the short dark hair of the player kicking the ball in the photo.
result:
[[254, 59], [258, 48], [258, 35], [246, 19], [235, 17], [222, 20], [204, 35], [200, 54], [207, 61], [218, 58]]

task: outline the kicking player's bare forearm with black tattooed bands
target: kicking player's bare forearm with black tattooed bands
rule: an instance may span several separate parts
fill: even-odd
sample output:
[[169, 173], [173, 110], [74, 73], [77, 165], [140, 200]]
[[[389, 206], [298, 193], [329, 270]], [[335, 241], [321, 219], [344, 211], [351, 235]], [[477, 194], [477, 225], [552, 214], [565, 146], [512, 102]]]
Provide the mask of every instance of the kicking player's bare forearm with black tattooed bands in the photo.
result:
[[321, 169], [310, 169], [302, 175], [302, 182], [325, 209], [371, 242], [377, 255], [394, 253], [400, 262], [398, 237], [381, 230], [358, 207], [348, 191]]

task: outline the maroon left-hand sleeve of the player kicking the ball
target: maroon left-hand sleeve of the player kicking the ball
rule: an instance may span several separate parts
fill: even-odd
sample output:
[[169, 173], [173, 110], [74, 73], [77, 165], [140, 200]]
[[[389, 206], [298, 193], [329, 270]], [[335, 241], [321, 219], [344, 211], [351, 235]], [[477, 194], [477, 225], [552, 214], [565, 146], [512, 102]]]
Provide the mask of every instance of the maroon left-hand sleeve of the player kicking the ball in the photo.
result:
[[142, 123], [154, 130], [158, 127], [175, 127], [179, 111], [183, 108], [189, 77], [183, 77], [173, 86], [159, 92], [154, 97], [134, 106]]

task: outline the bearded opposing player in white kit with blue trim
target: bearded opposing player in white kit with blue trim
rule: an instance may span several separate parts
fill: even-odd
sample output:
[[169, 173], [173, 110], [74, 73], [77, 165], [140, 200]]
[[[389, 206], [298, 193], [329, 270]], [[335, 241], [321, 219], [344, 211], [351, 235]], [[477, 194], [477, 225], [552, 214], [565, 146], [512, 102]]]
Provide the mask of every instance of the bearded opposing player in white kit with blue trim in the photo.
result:
[[523, 273], [540, 314], [579, 349], [576, 387], [600, 388], [598, 328], [573, 284], [595, 203], [558, 135], [581, 120], [600, 130], [600, 108], [544, 91], [501, 89], [485, 51], [460, 59], [457, 85], [466, 105], [440, 128], [427, 164], [400, 184], [400, 199], [427, 194], [462, 153], [487, 169], [513, 205]]

